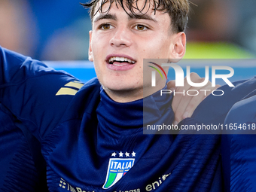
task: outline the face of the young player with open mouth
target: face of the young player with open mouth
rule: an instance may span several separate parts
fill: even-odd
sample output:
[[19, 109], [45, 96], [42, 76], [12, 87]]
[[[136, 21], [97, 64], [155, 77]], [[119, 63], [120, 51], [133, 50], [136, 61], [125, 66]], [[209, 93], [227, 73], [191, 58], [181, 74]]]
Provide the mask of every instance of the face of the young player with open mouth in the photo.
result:
[[184, 33], [172, 33], [169, 14], [148, 11], [130, 17], [114, 3], [105, 13], [108, 6], [93, 17], [89, 59], [108, 96], [117, 102], [141, 99], [145, 87], [143, 59], [182, 57], [184, 50], [177, 44], [184, 47]]

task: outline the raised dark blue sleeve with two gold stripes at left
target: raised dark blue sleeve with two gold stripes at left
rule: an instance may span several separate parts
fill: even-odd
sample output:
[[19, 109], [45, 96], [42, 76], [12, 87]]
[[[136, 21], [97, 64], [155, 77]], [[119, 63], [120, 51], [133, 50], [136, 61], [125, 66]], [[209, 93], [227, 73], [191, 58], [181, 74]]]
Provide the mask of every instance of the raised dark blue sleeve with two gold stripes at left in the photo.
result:
[[0, 47], [0, 102], [39, 140], [58, 124], [82, 86], [66, 72]]

